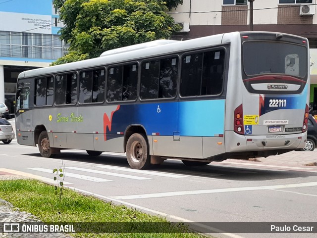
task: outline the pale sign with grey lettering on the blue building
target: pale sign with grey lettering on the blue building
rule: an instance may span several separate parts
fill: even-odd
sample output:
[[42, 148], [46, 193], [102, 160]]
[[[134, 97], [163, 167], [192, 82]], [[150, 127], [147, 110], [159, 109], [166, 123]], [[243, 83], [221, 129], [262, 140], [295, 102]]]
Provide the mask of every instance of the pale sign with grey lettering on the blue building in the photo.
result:
[[0, 12], [0, 31], [52, 34], [52, 16]]

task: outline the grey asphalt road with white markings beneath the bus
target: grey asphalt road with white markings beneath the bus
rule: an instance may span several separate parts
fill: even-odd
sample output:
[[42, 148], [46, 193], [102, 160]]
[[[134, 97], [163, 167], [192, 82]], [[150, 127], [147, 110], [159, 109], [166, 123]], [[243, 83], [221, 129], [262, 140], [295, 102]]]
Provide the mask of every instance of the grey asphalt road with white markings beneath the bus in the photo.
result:
[[[314, 222], [317, 231], [317, 167], [271, 166], [227, 160], [186, 167], [166, 160], [155, 170], [132, 170], [124, 155], [91, 157], [65, 150], [43, 158], [37, 147], [0, 143], [0, 171], [53, 183], [65, 167], [66, 186], [172, 221]], [[210, 226], [204, 224], [202, 229]], [[231, 238], [312, 238], [315, 234], [213, 234]]]

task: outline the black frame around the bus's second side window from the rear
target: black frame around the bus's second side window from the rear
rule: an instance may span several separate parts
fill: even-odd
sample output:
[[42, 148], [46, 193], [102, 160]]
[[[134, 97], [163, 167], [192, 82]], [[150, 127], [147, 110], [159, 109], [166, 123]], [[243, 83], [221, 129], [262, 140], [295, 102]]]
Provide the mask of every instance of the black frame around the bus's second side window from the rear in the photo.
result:
[[[139, 101], [157, 101], [157, 100], [164, 100], [164, 101], [169, 101], [169, 100], [174, 100], [179, 96], [179, 85], [180, 85], [180, 69], [181, 69], [181, 64], [180, 64], [180, 55], [182, 52], [176, 52], [174, 54], [165, 54], [165, 55], [160, 55], [159, 57], [151, 57], [151, 58], [144, 58], [140, 60], [140, 74], [139, 74], [139, 82], [138, 82], [138, 99]], [[141, 94], [141, 70], [142, 70], [142, 63], [144, 61], [152, 61], [152, 60], [161, 60], [161, 59], [167, 59], [167, 58], [172, 58], [173, 56], [178, 57], [178, 69], [177, 69], [177, 80], [176, 80], [176, 93], [175, 96], [173, 97], [158, 97], [158, 98], [147, 98], [147, 99], [142, 99], [140, 97]]]

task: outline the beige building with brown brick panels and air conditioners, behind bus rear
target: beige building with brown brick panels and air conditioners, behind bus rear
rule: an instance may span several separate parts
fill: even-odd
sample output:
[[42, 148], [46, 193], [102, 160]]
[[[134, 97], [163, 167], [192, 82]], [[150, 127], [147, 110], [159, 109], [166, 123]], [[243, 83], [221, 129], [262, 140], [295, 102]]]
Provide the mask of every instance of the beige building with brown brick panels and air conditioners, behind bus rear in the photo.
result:
[[[175, 40], [187, 40], [233, 31], [274, 31], [309, 39], [311, 55], [311, 106], [317, 111], [316, 0], [254, 0], [250, 22], [249, 0], [184, 0], [170, 12], [183, 26]], [[251, 18], [252, 19], [252, 18]]]

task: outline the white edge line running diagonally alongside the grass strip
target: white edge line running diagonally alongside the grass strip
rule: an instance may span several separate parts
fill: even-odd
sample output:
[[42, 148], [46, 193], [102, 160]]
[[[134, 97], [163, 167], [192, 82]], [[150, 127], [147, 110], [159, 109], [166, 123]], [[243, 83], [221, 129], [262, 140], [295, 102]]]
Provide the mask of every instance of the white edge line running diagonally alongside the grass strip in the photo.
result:
[[[136, 204], [132, 204], [132, 203], [129, 203], [129, 202], [125, 202], [125, 201], [122, 201], [122, 200], [117, 200], [117, 199], [114, 199], [112, 197], [107, 197], [107, 196], [104, 196], [104, 195], [101, 195], [101, 194], [97, 194], [97, 193], [94, 193], [94, 192], [90, 192], [90, 191], [87, 191], [87, 190], [76, 189], [74, 187], [69, 187], [69, 186], [65, 186], [65, 187], [68, 188], [68, 189], [71, 189], [71, 190], [75, 190], [75, 191], [79, 191], [79, 192], [82, 192], [82, 193], [86, 193], [88, 195], [100, 197], [100, 198], [106, 199], [108, 201], [116, 202], [118, 204], [123, 204], [123, 205], [126, 205], [126, 206], [134, 208], [134, 209], [139, 209], [139, 210], [141, 210], [143, 212], [156, 214], [156, 215], [159, 215], [160, 217], [165, 218], [166, 220], [169, 220], [171, 222], [184, 222], [184, 223], [194, 223], [195, 222], [195, 221], [188, 220], [186, 218], [170, 215], [170, 214], [167, 214], [167, 213], [163, 213], [163, 212], [160, 212], [160, 211], [157, 211], [157, 210], [153, 210], [153, 209], [150, 209], [150, 208], [147, 208], [147, 207], [142, 207], [142, 206], [139, 206], [139, 205], [136, 205]], [[230, 237], [230, 238], [244, 238], [244, 237], [241, 237], [241, 236], [236, 235], [236, 234], [226, 233], [225, 231], [221, 231], [221, 230], [218, 230], [216, 228], [212, 228], [210, 226], [206, 226], [204, 224], [197, 223], [196, 226], [197, 227], [201, 227], [204, 230], [208, 229], [210, 231], [213, 231], [214, 233], [220, 233], [220, 234], [225, 235], [225, 236]]]

